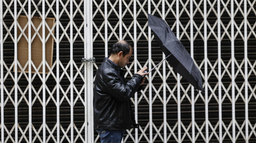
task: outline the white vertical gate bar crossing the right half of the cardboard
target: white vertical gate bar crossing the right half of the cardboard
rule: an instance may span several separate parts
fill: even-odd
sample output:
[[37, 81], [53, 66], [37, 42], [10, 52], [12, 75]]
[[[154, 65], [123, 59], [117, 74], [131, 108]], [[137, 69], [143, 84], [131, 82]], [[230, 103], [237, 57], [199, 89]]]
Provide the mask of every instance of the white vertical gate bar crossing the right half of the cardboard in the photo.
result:
[[43, 46], [43, 143], [45, 143], [45, 0], [42, 2], [42, 46]]

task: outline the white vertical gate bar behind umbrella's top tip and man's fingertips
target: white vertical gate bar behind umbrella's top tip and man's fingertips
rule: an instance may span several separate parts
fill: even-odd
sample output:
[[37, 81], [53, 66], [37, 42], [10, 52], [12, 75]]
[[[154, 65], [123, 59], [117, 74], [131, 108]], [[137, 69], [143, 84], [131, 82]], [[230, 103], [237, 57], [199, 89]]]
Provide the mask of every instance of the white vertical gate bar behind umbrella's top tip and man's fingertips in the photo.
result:
[[[148, 0], [148, 14], [151, 14], [151, 1]], [[148, 70], [151, 70], [151, 29], [148, 27]], [[151, 72], [148, 74], [149, 76], [149, 122], [150, 122], [150, 143], [153, 142], [153, 135], [152, 135], [152, 74]]]

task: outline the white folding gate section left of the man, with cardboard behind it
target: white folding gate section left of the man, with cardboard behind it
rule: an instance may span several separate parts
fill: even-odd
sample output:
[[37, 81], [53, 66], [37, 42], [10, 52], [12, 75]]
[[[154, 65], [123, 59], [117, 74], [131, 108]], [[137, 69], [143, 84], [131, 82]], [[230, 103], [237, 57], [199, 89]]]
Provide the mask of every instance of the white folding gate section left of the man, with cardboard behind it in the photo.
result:
[[[0, 1], [1, 143], [91, 142], [93, 63], [81, 62], [83, 57], [93, 56], [91, 6], [89, 1], [79, 0]], [[25, 27], [17, 22], [20, 15], [28, 18]], [[42, 19], [39, 26], [32, 17]], [[46, 23], [49, 17], [56, 19], [51, 29]], [[17, 60], [17, 43], [22, 36], [28, 43], [29, 60], [24, 67]], [[38, 67], [31, 60], [35, 36], [42, 43]], [[54, 39], [52, 66], [45, 56], [49, 36]]]

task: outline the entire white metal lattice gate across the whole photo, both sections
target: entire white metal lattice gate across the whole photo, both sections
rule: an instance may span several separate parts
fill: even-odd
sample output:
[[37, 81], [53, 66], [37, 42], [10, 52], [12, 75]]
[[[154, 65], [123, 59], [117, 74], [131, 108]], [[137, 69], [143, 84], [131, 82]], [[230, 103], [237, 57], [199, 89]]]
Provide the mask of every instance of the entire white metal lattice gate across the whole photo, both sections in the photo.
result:
[[[148, 29], [147, 13], [167, 21], [200, 69], [205, 90], [197, 93], [163, 62], [131, 99], [140, 128], [127, 130], [123, 142], [255, 142], [255, 2], [0, 0], [1, 143], [100, 142], [93, 130], [93, 80], [111, 45], [126, 40], [134, 48], [126, 79], [165, 58]], [[19, 15], [29, 19], [23, 29]], [[34, 16], [42, 18], [38, 27]], [[52, 29], [48, 17], [56, 19]], [[37, 32], [26, 36], [26, 30]], [[29, 60], [22, 67], [21, 36], [28, 43], [41, 37], [42, 53], [52, 36], [52, 66], [42, 56], [36, 67], [28, 44]]]

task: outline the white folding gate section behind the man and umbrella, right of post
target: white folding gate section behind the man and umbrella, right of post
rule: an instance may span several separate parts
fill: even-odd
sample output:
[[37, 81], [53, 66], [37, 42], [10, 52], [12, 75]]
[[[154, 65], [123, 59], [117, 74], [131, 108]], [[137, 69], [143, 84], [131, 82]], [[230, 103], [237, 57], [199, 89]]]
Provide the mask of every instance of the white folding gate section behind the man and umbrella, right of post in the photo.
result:
[[254, 3], [93, 0], [97, 66], [118, 40], [134, 44], [134, 58], [126, 67], [128, 79], [143, 66], [150, 70], [165, 57], [148, 29], [149, 13], [167, 21], [190, 51], [205, 81], [205, 91], [197, 93], [167, 62], [159, 65], [147, 76], [145, 89], [131, 99], [140, 128], [127, 131], [124, 142], [256, 140]]

